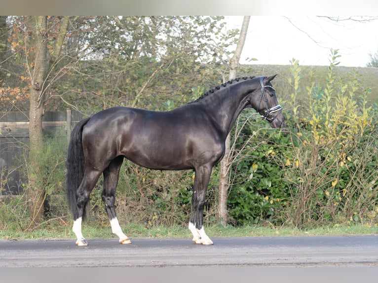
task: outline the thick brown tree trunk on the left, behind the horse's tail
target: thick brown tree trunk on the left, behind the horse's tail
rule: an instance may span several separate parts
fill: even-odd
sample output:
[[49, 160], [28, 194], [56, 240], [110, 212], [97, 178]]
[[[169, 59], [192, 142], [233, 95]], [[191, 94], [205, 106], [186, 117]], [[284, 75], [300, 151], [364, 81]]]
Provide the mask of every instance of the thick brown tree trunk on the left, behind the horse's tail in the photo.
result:
[[42, 116], [45, 90], [47, 60], [47, 16], [28, 18], [32, 34], [28, 56], [28, 69], [31, 75], [30, 110], [29, 110], [29, 186], [28, 203], [33, 222], [39, 222], [43, 216], [44, 188], [41, 186], [41, 166], [38, 156], [43, 147]]

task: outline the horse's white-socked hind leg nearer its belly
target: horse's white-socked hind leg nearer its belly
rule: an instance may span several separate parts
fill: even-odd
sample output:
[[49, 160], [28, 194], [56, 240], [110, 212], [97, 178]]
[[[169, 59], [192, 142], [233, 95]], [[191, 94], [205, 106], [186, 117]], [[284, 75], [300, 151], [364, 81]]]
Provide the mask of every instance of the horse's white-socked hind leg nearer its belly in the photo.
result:
[[104, 187], [102, 191], [102, 200], [105, 204], [105, 208], [108, 212], [110, 224], [112, 226], [113, 234], [119, 238], [121, 244], [131, 244], [129, 238], [123, 234], [121, 227], [119, 226], [117, 215], [115, 213], [115, 190], [118, 183], [119, 170], [123, 162], [123, 156], [118, 156], [113, 159], [108, 168], [103, 172], [104, 174]]

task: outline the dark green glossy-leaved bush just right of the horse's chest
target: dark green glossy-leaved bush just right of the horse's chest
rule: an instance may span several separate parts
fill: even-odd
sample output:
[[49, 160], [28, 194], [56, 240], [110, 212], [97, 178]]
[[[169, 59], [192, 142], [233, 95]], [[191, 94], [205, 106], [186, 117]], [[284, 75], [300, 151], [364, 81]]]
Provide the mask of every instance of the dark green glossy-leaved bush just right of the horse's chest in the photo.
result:
[[273, 218], [277, 218], [277, 211], [289, 201], [284, 172], [281, 165], [275, 162], [281, 148], [289, 144], [289, 136], [264, 128], [264, 125], [266, 127], [266, 121], [259, 121], [243, 130], [245, 137], [255, 137], [244, 149], [242, 159], [232, 172], [228, 209], [231, 222], [235, 225], [273, 221]]

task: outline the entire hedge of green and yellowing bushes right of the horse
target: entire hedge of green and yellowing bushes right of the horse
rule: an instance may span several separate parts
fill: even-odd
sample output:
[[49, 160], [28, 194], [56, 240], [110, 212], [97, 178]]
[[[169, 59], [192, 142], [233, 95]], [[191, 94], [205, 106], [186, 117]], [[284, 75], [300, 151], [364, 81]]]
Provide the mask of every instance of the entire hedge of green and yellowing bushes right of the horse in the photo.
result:
[[244, 159], [235, 166], [228, 199], [234, 224], [377, 225], [377, 105], [368, 107], [370, 89], [358, 73], [336, 74], [339, 57], [332, 51], [325, 81], [310, 85], [293, 59], [292, 93], [281, 103], [288, 131], [259, 123], [243, 130], [243, 137], [254, 135], [254, 145], [243, 147]]

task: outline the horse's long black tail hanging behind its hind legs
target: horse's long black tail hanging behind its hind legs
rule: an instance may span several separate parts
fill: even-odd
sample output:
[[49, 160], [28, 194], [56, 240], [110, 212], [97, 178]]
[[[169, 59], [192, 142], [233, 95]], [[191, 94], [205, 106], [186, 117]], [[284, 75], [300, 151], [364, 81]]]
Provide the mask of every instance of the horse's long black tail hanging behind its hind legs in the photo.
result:
[[[85, 124], [90, 118], [86, 118], [78, 122], [71, 133], [70, 144], [68, 145], [67, 156], [67, 201], [68, 207], [74, 217], [76, 217], [77, 197], [76, 190], [79, 187], [81, 180], [84, 177], [84, 152], [81, 141], [82, 131]], [[83, 212], [83, 218], [85, 217], [85, 207]], [[76, 220], [76, 219], [75, 219]]]

